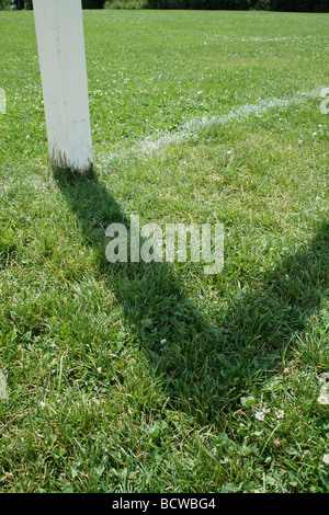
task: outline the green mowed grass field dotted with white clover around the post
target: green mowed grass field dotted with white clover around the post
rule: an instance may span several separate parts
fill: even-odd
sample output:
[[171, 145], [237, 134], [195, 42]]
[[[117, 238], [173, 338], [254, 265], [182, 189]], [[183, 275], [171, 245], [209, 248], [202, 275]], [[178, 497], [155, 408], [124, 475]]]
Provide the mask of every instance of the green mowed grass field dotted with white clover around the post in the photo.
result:
[[[33, 13], [0, 13], [2, 492], [328, 492], [328, 15], [83, 19], [95, 178], [69, 182]], [[132, 214], [224, 224], [223, 273], [110, 264]]]

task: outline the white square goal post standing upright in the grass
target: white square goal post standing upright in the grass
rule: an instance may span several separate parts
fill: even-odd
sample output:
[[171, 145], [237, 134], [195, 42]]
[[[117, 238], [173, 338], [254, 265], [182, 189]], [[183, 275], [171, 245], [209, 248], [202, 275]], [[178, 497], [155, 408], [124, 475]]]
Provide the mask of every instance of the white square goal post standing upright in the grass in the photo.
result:
[[92, 169], [81, 0], [33, 0], [52, 165]]

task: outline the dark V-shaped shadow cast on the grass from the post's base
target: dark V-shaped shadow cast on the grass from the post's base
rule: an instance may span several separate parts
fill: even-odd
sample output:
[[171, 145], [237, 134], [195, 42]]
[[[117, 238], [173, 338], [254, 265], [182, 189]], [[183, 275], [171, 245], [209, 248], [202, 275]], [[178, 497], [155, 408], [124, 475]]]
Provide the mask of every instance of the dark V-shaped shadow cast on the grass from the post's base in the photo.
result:
[[320, 309], [328, 288], [328, 224], [318, 227], [304, 250], [264, 273], [253, 290], [232, 297], [215, 325], [189, 300], [174, 266], [106, 261], [105, 228], [121, 222], [129, 230], [129, 220], [95, 176], [55, 179], [86, 244], [99, 252], [99, 271], [171, 405], [203, 423], [236, 408], [257, 381], [277, 370], [294, 334], [309, 328]]

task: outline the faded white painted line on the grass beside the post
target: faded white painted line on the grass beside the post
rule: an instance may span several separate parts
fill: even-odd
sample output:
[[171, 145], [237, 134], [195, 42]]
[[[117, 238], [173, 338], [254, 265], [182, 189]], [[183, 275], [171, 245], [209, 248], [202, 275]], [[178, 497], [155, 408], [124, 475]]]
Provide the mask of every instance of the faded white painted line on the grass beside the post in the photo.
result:
[[274, 107], [288, 107], [290, 105], [300, 104], [307, 99], [320, 99], [320, 92], [322, 88], [317, 88], [315, 90], [305, 91], [303, 93], [296, 93], [293, 96], [287, 96], [285, 99], [268, 99], [263, 100], [257, 104], [245, 104], [240, 107], [236, 107], [229, 111], [224, 115], [215, 115], [212, 117], [202, 117], [202, 118], [192, 118], [181, 126], [181, 128], [175, 133], [160, 133], [158, 135], [148, 136], [140, 142], [137, 142], [127, 150], [122, 150], [114, 153], [102, 153], [99, 156], [100, 160], [105, 163], [114, 159], [124, 158], [128, 154], [150, 154], [161, 148], [166, 148], [170, 145], [177, 145], [186, 140], [191, 136], [197, 136], [202, 129], [209, 127], [224, 127], [229, 122], [246, 119], [249, 116], [257, 115], [261, 116], [268, 111]]

